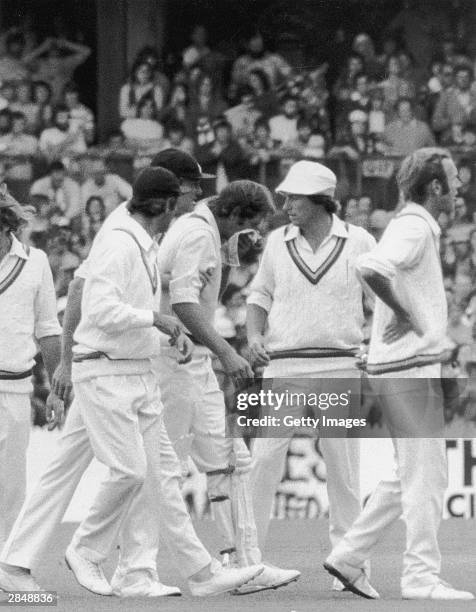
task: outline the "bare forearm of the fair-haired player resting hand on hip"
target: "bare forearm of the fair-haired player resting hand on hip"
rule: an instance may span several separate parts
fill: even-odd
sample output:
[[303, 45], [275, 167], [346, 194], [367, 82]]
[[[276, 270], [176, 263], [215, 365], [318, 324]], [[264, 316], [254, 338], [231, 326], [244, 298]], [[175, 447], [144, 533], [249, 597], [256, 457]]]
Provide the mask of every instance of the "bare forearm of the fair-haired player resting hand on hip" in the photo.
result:
[[379, 272], [369, 268], [362, 268], [361, 274], [375, 295], [394, 312], [394, 317], [387, 325], [383, 335], [385, 344], [392, 344], [411, 331], [414, 331], [419, 336], [422, 335], [423, 332], [412, 319], [410, 313], [398, 301], [392, 287], [392, 282]]

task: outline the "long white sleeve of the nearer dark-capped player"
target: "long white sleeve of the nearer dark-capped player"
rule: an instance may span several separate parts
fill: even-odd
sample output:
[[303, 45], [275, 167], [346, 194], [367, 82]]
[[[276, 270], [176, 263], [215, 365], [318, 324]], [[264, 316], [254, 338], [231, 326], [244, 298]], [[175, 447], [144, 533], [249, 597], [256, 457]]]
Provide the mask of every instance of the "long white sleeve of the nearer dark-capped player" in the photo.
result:
[[83, 310], [91, 322], [106, 333], [152, 327], [152, 310], [135, 308], [124, 301], [133, 272], [137, 247], [131, 240], [115, 237], [98, 247], [94, 269], [90, 267], [83, 292]]

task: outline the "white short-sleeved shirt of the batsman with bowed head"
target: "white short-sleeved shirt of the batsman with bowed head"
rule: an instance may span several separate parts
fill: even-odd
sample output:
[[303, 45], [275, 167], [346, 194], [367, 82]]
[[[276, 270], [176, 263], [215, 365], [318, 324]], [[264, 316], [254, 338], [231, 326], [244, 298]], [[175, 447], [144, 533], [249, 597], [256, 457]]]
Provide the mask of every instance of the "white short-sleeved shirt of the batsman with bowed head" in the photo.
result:
[[[161, 274], [170, 274], [169, 293], [162, 295], [162, 311], [171, 313], [170, 304], [200, 304], [213, 324], [221, 282], [221, 239], [213, 213], [206, 200], [193, 212], [182, 215], [169, 228], [159, 247]], [[200, 272], [213, 269], [202, 288]]]

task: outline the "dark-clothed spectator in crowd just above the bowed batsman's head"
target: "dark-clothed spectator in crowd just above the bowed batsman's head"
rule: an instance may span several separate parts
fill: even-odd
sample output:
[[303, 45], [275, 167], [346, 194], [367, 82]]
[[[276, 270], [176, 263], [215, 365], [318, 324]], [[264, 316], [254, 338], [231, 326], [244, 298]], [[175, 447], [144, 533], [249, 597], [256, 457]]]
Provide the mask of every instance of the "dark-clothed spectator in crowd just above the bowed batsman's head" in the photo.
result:
[[246, 178], [249, 169], [244, 151], [233, 138], [228, 121], [225, 118], [217, 119], [213, 130], [215, 142], [198, 147], [196, 157], [204, 172], [216, 176], [216, 193], [219, 193], [231, 181]]

